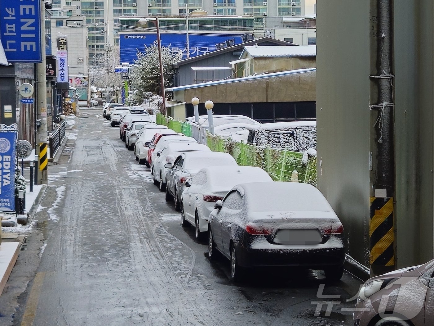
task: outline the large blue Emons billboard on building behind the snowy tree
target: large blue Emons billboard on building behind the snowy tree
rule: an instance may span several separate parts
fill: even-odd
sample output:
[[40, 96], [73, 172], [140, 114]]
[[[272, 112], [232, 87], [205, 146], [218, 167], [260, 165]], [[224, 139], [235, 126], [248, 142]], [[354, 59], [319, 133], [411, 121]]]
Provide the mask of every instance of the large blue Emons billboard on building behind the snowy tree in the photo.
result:
[[[227, 40], [235, 40], [235, 44], [243, 43], [243, 33], [190, 33], [188, 37], [190, 57], [217, 50], [216, 44]], [[160, 33], [161, 45], [170, 47], [173, 53], [182, 52], [182, 59], [187, 58], [187, 34]], [[145, 52], [145, 45], [150, 46], [157, 40], [156, 33], [119, 33], [121, 63], [133, 64], [137, 60], [137, 50]]]

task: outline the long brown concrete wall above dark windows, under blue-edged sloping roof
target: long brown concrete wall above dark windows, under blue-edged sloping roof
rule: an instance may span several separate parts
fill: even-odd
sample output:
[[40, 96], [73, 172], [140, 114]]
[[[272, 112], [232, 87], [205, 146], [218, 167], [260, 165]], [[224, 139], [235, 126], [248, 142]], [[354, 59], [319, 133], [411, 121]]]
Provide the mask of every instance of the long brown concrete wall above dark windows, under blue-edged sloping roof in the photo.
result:
[[[252, 92], [254, 90], [254, 92]], [[193, 97], [214, 103], [303, 102], [316, 100], [316, 72], [246, 80], [175, 92], [174, 98], [191, 103]]]

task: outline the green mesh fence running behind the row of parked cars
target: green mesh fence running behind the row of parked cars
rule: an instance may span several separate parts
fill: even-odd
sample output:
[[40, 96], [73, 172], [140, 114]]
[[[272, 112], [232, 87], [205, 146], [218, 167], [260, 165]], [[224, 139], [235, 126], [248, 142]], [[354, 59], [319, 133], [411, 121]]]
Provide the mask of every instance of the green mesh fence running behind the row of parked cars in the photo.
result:
[[[157, 123], [176, 132], [192, 136], [191, 125], [157, 114]], [[316, 158], [302, 163], [303, 153], [290, 150], [257, 147], [247, 143], [208, 134], [207, 144], [214, 152], [230, 153], [239, 165], [257, 166], [264, 169], [275, 181], [299, 181], [316, 186]]]

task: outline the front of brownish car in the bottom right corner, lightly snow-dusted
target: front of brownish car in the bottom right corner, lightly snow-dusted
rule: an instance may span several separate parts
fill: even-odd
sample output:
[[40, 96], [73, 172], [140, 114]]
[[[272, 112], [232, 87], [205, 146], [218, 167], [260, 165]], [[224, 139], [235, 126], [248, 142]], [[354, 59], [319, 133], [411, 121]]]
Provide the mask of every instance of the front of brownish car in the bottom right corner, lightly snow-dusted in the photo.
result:
[[368, 279], [353, 314], [356, 326], [434, 325], [434, 260]]

